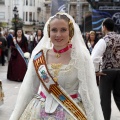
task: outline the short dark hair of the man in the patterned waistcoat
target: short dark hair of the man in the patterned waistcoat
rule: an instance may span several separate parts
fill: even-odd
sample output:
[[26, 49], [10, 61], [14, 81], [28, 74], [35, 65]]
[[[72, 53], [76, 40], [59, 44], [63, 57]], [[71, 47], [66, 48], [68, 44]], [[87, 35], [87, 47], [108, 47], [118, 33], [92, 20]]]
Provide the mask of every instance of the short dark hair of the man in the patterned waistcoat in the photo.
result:
[[109, 31], [113, 31], [115, 26], [114, 21], [111, 18], [106, 18], [102, 25], [105, 26]]

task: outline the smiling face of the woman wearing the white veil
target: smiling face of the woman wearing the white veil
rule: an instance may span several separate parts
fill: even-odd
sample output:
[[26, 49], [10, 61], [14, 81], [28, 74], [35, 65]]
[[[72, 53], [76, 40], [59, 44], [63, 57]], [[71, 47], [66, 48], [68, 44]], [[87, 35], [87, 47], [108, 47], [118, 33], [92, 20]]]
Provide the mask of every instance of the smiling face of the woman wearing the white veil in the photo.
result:
[[69, 41], [69, 25], [63, 19], [54, 19], [50, 22], [50, 39], [54, 46], [66, 46]]

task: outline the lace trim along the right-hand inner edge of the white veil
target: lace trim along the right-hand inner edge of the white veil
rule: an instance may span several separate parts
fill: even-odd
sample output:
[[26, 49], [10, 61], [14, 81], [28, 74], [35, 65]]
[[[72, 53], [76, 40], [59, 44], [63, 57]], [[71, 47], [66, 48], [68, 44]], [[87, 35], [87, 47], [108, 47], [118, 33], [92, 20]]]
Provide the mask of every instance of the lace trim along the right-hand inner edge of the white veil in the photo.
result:
[[[72, 54], [71, 54], [72, 59], [75, 61], [75, 68], [78, 70], [78, 79], [80, 80], [81, 84], [79, 87], [80, 95], [82, 97], [82, 101], [86, 110], [87, 117], [89, 120], [93, 120], [93, 111], [94, 107], [91, 101], [89, 100], [88, 96], [88, 89], [87, 89], [87, 82], [86, 82], [86, 74], [85, 74], [85, 65], [80, 63], [80, 58], [81, 56], [78, 56], [75, 52], [75, 49], [73, 48]], [[79, 57], [79, 58], [78, 58]], [[84, 58], [81, 58], [84, 59]], [[82, 60], [83, 61], [83, 60]]]

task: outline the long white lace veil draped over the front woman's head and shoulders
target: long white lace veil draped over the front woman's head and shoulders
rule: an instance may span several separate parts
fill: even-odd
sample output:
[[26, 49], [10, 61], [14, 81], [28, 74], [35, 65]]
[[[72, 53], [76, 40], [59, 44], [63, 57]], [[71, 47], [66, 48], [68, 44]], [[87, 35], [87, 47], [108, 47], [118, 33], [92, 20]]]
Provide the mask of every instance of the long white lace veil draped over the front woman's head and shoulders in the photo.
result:
[[[94, 66], [90, 54], [85, 46], [80, 29], [70, 15], [68, 15], [67, 13], [60, 14], [66, 15], [73, 22], [74, 36], [71, 40], [71, 59], [74, 59], [75, 68], [78, 70], [78, 79], [80, 81], [79, 93], [81, 94], [88, 120], [104, 120], [100, 106], [99, 91], [96, 85]], [[39, 80], [36, 80], [36, 82], [34, 82], [35, 79], [37, 79], [37, 75], [33, 67], [33, 57], [43, 48], [51, 49], [47, 26], [49, 24], [49, 21], [53, 17], [54, 16], [50, 17], [49, 20], [46, 22], [44, 27], [44, 36], [32, 52], [32, 56], [28, 65], [29, 67], [25, 75], [23, 84], [21, 85], [17, 104], [10, 120], [17, 120], [15, 119], [15, 116], [20, 116], [25, 106], [32, 99], [34, 93], [36, 93], [38, 90], [37, 88], [39, 87]], [[27, 96], [26, 99], [23, 98], [24, 96]], [[23, 102], [24, 100], [25, 102]], [[19, 108], [19, 103], [21, 102], [23, 107]]]

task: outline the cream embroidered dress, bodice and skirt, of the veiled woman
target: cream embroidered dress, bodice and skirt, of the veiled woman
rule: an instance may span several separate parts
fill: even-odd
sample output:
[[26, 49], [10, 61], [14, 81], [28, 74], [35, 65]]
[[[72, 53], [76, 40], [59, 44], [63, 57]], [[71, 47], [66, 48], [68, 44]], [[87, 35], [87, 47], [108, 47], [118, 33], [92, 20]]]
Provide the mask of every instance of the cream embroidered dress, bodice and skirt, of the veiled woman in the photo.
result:
[[[46, 51], [44, 51], [46, 54]], [[55, 70], [52, 65], [48, 65], [48, 70], [53, 77]], [[69, 95], [78, 94], [79, 81], [77, 71], [74, 69], [74, 61], [71, 60], [68, 65], [62, 65], [58, 73], [58, 83], [66, 90]], [[77, 104], [84, 110], [81, 97], [74, 98]], [[26, 107], [19, 120], [74, 120], [71, 115], [61, 106], [58, 105], [54, 113], [45, 112], [45, 97], [38, 92]]]

